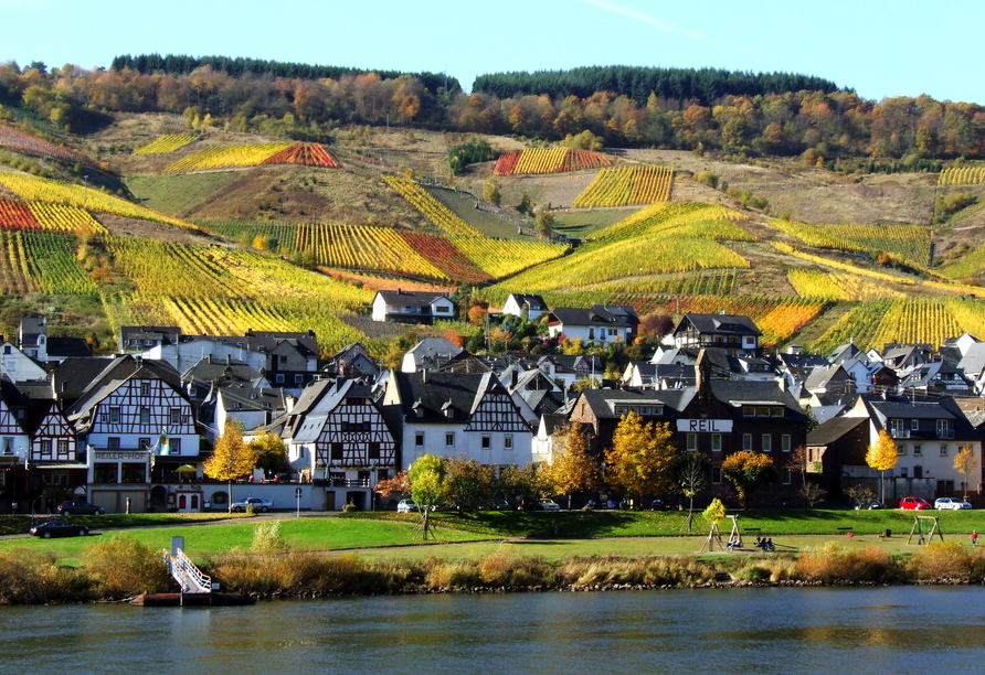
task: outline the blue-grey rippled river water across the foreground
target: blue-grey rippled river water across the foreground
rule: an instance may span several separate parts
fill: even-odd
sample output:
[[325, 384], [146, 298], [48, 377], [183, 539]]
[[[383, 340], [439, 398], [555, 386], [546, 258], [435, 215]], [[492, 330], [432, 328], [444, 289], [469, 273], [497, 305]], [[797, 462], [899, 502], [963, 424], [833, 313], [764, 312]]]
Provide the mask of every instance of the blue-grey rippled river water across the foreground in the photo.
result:
[[4, 673], [978, 673], [985, 588], [0, 608]]

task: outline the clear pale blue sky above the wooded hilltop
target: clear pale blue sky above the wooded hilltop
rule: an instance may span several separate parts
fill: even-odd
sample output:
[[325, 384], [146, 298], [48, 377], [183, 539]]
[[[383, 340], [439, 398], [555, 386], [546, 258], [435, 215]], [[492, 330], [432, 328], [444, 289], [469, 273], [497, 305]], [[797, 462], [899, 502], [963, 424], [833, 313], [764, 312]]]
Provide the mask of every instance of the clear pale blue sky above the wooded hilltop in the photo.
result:
[[981, 0], [0, 0], [0, 61], [222, 54], [447, 71], [466, 89], [501, 71], [712, 66], [985, 104], [983, 20]]

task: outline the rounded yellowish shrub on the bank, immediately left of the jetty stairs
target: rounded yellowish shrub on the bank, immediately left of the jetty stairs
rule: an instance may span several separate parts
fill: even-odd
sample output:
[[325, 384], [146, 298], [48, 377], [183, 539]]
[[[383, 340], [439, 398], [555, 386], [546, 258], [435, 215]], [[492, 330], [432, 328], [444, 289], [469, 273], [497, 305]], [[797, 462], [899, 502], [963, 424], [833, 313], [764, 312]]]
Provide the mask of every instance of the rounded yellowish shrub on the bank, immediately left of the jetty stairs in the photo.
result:
[[86, 548], [82, 570], [92, 577], [104, 598], [160, 592], [173, 585], [161, 554], [128, 535]]

